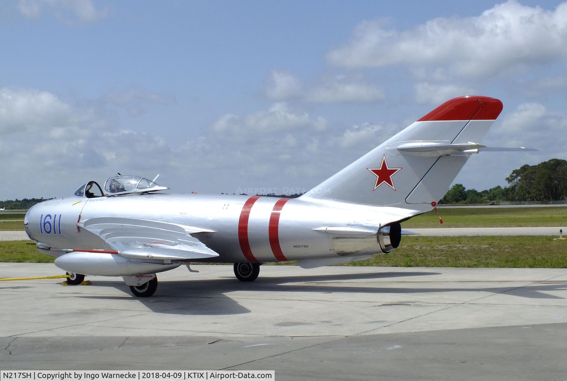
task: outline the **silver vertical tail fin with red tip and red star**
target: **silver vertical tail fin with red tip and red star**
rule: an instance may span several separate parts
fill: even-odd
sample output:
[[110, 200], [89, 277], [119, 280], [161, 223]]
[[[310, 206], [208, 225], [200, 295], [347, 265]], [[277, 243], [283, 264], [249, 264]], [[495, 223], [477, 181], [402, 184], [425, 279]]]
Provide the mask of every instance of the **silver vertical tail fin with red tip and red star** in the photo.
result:
[[501, 111], [502, 102], [490, 97], [451, 99], [305, 196], [429, 210], [484, 147], [478, 143]]

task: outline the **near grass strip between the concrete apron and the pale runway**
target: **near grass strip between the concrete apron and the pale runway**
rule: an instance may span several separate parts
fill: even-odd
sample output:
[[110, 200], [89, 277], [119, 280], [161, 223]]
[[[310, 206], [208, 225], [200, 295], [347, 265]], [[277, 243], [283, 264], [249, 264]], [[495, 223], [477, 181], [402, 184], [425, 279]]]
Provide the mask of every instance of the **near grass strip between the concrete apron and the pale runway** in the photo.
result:
[[[0, 242], [0, 262], [50, 263], [29, 241]], [[296, 264], [280, 262], [278, 265]], [[539, 236], [403, 237], [388, 254], [338, 266], [566, 268], [567, 239]]]

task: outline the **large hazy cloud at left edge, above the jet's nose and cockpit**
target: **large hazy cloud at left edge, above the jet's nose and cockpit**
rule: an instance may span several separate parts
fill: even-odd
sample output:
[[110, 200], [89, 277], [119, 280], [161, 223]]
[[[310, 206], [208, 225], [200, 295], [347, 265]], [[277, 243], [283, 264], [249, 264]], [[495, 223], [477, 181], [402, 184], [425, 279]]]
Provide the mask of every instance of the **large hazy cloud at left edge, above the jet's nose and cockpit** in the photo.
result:
[[46, 91], [0, 89], [0, 160], [9, 163], [0, 178], [18, 179], [18, 187], [0, 182], [0, 198], [65, 195], [73, 191], [69, 180], [76, 179], [74, 187], [116, 171], [146, 175], [171, 168], [163, 139], [117, 130], [99, 102], [91, 103], [79, 107]]

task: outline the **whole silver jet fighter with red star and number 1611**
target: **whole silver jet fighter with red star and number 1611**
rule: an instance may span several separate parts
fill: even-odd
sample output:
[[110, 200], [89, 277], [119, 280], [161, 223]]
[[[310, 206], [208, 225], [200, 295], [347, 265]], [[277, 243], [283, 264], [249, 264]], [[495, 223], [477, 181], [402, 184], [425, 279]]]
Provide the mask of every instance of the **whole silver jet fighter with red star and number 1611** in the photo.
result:
[[521, 150], [479, 144], [501, 110], [490, 97], [449, 100], [297, 199], [163, 194], [119, 175], [37, 204], [24, 225], [70, 284], [122, 276], [139, 297], [154, 294], [155, 273], [191, 262], [234, 263], [253, 281], [264, 262], [361, 260], [396, 249], [400, 222], [433, 209], [471, 155]]

